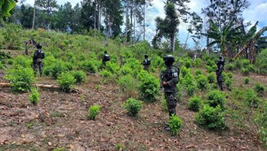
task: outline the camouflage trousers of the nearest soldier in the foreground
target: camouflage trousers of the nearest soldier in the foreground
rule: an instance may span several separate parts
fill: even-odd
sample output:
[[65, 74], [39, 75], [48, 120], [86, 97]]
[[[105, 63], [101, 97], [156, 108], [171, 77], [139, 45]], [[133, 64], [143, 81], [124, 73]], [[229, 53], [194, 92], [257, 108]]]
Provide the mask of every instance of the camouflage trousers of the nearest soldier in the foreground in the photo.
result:
[[176, 93], [165, 92], [164, 95], [165, 95], [165, 99], [167, 102], [169, 116], [171, 116], [173, 114], [176, 115], [176, 106], [177, 106]]

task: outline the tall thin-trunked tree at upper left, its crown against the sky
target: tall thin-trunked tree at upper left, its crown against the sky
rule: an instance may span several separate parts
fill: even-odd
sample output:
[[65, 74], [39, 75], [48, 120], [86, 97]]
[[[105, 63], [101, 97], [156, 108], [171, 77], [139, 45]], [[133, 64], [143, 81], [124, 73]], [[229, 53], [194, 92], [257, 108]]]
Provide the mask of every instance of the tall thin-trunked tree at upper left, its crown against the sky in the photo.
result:
[[46, 17], [44, 18], [44, 20], [46, 21], [45, 24], [48, 30], [51, 12], [53, 12], [53, 10], [57, 7], [57, 1], [56, 0], [36, 0], [36, 5], [39, 8], [43, 9], [46, 14]]

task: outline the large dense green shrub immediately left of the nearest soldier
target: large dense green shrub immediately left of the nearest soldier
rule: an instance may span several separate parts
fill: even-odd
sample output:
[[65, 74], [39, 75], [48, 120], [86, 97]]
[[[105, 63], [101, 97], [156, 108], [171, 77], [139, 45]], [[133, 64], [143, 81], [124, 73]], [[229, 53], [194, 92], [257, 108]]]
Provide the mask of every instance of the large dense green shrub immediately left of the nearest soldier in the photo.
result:
[[142, 98], [147, 102], [153, 102], [160, 90], [160, 82], [153, 75], [149, 74], [140, 80], [139, 91]]

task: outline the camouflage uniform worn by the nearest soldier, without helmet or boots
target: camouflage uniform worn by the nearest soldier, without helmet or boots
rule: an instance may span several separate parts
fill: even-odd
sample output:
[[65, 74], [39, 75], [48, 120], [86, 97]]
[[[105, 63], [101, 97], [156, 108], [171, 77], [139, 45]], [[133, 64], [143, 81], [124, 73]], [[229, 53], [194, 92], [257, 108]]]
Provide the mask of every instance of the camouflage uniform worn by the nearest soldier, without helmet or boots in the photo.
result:
[[179, 82], [179, 69], [173, 65], [168, 66], [162, 75], [162, 81], [166, 82], [164, 86], [164, 95], [167, 102], [168, 113], [169, 115], [176, 115], [176, 106], [177, 106], [177, 86]]

